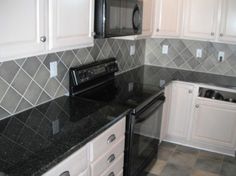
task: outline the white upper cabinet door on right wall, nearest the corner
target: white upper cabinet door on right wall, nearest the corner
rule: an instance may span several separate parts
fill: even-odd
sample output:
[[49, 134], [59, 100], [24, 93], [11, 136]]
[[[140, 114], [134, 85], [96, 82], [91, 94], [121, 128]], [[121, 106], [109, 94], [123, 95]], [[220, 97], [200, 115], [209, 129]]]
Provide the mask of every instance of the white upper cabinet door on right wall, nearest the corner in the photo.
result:
[[180, 35], [182, 6], [182, 0], [156, 0], [154, 35]]

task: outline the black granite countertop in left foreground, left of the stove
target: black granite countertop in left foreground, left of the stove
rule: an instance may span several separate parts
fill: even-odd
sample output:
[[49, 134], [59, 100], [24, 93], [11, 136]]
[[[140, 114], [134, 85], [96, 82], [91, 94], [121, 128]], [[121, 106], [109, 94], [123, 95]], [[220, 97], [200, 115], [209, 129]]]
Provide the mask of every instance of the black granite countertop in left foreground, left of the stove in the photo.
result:
[[0, 121], [0, 175], [42, 175], [127, 113], [127, 107], [61, 97]]

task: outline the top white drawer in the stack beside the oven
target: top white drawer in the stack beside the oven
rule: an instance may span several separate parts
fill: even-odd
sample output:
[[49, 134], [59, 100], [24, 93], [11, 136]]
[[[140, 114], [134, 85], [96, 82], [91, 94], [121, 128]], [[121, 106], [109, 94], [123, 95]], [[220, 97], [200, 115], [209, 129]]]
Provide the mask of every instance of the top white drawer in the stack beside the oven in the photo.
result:
[[125, 118], [117, 122], [90, 143], [90, 161], [94, 161], [99, 156], [103, 155], [116, 144], [124, 134]]

